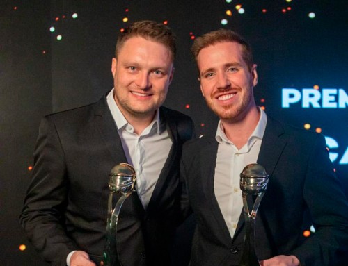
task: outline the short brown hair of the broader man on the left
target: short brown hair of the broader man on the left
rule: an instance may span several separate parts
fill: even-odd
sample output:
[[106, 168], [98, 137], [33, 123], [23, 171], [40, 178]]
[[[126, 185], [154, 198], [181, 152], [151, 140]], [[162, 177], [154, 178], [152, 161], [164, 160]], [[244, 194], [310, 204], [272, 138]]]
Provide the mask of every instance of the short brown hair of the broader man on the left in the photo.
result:
[[127, 28], [125, 28], [125, 30], [118, 35], [115, 51], [116, 58], [123, 44], [133, 37], [142, 37], [146, 40], [152, 40], [154, 42], [164, 44], [171, 51], [174, 60], [176, 54], [174, 33], [168, 26], [150, 20], [134, 22], [133, 24], [127, 26]]

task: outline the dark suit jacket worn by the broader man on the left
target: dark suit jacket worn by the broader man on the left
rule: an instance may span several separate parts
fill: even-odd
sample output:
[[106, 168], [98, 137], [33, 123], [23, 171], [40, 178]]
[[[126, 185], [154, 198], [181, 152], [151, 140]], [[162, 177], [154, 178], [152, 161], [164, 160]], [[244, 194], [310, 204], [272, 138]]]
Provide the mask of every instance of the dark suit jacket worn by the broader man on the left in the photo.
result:
[[[136, 193], [122, 206], [117, 239], [125, 266], [168, 265], [179, 210], [182, 143], [192, 138], [193, 122], [174, 110], [160, 110], [173, 145], [147, 210]], [[20, 219], [29, 240], [49, 263], [65, 265], [70, 251], [83, 250], [99, 265], [108, 174], [119, 163], [127, 160], [106, 97], [42, 119]]]

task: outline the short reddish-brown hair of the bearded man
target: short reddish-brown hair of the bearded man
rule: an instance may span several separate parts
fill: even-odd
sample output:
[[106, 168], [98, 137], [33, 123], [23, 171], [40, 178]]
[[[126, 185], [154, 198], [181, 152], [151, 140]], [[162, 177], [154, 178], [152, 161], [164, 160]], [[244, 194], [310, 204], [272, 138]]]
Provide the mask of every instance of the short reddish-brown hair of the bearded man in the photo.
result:
[[206, 33], [205, 35], [196, 38], [191, 47], [191, 53], [193, 55], [193, 58], [197, 62], [197, 57], [200, 50], [219, 42], [237, 42], [241, 44], [244, 51], [243, 59], [246, 62], [246, 65], [248, 65], [249, 69], [253, 67], [253, 53], [248, 42], [246, 42], [246, 40], [244, 40], [244, 38], [242, 38], [242, 36], [236, 33], [235, 31], [226, 30], [224, 28], [220, 28], [217, 31], [211, 31], [209, 33]]

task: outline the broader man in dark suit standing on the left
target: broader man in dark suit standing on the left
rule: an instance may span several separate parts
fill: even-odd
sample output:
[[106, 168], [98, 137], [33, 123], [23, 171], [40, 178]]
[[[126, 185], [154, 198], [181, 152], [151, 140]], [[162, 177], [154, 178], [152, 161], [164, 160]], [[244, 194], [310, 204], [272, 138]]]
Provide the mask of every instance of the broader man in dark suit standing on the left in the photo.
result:
[[20, 219], [47, 262], [100, 265], [108, 174], [129, 163], [136, 170], [136, 193], [119, 216], [120, 263], [170, 265], [182, 144], [193, 136], [189, 117], [161, 107], [174, 58], [167, 26], [136, 22], [118, 38], [113, 90], [96, 103], [42, 119]]

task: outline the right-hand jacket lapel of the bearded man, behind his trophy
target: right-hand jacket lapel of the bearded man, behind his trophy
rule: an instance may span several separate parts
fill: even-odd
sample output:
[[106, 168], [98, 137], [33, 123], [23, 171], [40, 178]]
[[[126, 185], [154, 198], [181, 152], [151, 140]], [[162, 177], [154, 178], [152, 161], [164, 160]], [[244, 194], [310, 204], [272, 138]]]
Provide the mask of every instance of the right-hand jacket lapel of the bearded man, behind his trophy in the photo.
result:
[[[269, 174], [269, 178], [272, 178], [274, 169], [276, 168], [281, 153], [286, 146], [286, 140], [284, 138], [281, 138], [284, 133], [284, 128], [280, 124], [280, 122], [267, 116], [267, 125], [264, 131], [264, 136], [262, 138], [262, 144], [257, 163], [262, 165], [266, 169], [267, 174]], [[242, 231], [243, 225], [244, 211], [242, 210], [233, 239], [237, 238], [237, 235]]]

